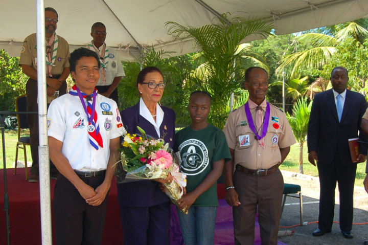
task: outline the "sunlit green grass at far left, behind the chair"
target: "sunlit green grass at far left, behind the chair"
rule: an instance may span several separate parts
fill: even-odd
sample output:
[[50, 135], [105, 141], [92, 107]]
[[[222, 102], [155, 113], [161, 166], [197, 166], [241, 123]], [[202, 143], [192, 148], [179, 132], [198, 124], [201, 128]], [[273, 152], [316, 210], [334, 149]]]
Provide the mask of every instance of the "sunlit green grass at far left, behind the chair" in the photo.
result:
[[[21, 136], [26, 136], [26, 135], [27, 134], [22, 134]], [[4, 139], [5, 139], [5, 154], [6, 154], [7, 168], [13, 168], [13, 164], [15, 162], [16, 143], [18, 142], [18, 132], [16, 130], [5, 130]], [[0, 158], [1, 158], [0, 159], [0, 169], [1, 169], [1, 168], [4, 168], [3, 139], [1, 139]], [[24, 154], [23, 154], [22, 149], [19, 149], [18, 151], [18, 161], [24, 162]], [[32, 163], [31, 148], [29, 146], [27, 146], [27, 162], [29, 164]]]

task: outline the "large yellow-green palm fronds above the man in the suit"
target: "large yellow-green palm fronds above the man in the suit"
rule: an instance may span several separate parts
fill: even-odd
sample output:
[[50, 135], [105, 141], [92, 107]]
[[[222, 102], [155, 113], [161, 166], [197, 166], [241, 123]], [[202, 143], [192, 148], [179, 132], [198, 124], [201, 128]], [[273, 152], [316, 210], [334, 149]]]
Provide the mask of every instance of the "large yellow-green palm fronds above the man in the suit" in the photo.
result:
[[309, 44], [310, 48], [286, 56], [276, 73], [281, 75], [285, 69], [290, 77], [298, 77], [303, 70], [321, 69], [335, 54], [340, 43], [349, 38], [362, 43], [368, 37], [367, 22], [366, 19], [359, 19], [321, 29], [325, 33], [306, 33], [294, 37], [296, 42]]

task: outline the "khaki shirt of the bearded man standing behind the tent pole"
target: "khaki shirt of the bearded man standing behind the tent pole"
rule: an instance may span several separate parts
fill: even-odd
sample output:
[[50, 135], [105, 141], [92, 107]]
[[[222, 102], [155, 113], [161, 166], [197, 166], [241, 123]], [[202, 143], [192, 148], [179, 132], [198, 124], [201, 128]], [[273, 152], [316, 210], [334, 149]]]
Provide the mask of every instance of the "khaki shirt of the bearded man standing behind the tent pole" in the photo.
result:
[[[51, 47], [54, 49], [54, 44]], [[46, 56], [46, 52], [44, 52]], [[54, 54], [55, 55], [55, 54]], [[60, 75], [63, 70], [69, 67], [69, 44], [67, 41], [58, 35], [58, 50], [56, 52], [55, 66], [51, 69], [51, 74]], [[47, 58], [46, 58], [47, 59]], [[20, 52], [19, 64], [27, 64], [33, 67], [37, 71], [37, 39], [36, 33], [33, 33], [26, 37], [23, 42], [23, 47]]]

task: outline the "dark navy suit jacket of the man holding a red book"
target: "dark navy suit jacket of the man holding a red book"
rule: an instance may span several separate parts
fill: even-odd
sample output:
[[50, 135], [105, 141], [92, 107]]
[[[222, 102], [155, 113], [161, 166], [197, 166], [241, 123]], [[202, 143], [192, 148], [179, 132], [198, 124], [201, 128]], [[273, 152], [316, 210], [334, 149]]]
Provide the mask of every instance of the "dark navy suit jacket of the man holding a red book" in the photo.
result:
[[[339, 122], [332, 89], [316, 94], [309, 117], [308, 152], [316, 151], [319, 163], [331, 163], [337, 153], [343, 164], [352, 164], [348, 140], [359, 137], [368, 142], [360, 130], [366, 108], [363, 95], [347, 90]], [[360, 153], [367, 154], [365, 145], [360, 145]]]

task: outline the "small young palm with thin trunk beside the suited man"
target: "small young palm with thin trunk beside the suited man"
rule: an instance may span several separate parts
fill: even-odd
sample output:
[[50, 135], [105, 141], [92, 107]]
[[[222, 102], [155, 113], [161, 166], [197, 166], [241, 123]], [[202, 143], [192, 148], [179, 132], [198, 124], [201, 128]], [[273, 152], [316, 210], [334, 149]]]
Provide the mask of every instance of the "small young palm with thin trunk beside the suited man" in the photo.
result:
[[292, 115], [286, 113], [295, 139], [299, 142], [299, 173], [303, 173], [303, 145], [306, 140], [312, 102], [301, 97], [293, 105]]

